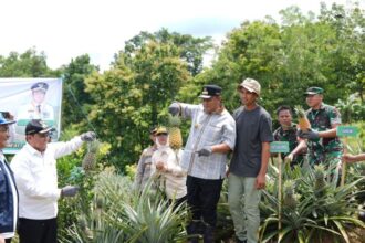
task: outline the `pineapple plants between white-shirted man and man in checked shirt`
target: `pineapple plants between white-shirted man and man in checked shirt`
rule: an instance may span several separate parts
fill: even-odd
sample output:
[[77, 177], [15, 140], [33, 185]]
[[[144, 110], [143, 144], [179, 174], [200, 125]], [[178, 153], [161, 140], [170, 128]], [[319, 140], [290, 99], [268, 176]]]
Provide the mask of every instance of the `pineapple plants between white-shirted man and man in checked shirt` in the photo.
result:
[[[152, 182], [152, 181], [150, 181]], [[149, 186], [148, 186], [149, 187]], [[94, 200], [62, 242], [185, 242], [185, 205], [174, 209], [158, 191], [138, 193], [127, 176], [106, 170], [97, 176]]]

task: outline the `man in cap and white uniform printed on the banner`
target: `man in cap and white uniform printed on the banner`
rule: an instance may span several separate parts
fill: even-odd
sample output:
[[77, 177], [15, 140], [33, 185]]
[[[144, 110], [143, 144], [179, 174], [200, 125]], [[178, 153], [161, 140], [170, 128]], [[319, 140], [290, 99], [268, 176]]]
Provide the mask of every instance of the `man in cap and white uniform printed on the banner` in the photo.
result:
[[31, 86], [32, 101], [23, 105], [18, 112], [17, 119], [42, 119], [53, 120], [53, 107], [45, 103], [45, 94], [49, 85], [44, 82], [38, 82]]

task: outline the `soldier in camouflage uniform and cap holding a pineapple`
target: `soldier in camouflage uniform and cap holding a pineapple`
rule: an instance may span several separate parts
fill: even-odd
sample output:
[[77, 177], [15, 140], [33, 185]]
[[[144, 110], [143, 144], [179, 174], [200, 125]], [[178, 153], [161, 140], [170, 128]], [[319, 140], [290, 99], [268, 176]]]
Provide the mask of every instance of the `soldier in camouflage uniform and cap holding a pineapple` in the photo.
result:
[[301, 138], [307, 139], [310, 165], [324, 163], [332, 170], [333, 181], [337, 181], [341, 169], [343, 146], [336, 135], [336, 127], [341, 125], [341, 114], [334, 107], [323, 103], [323, 88], [310, 87], [305, 92], [306, 117], [311, 123], [311, 130], [300, 131]]

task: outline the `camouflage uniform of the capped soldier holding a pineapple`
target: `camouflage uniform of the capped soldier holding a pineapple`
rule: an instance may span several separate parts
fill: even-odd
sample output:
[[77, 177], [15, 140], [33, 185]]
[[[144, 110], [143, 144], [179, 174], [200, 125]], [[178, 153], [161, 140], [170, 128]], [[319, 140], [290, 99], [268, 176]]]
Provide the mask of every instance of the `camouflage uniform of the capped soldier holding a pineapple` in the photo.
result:
[[[332, 125], [341, 124], [340, 112], [335, 107], [323, 103], [317, 110], [312, 108], [306, 110], [306, 117], [311, 123], [312, 129], [316, 131], [328, 130], [332, 129]], [[310, 165], [324, 163], [336, 172], [334, 176], [338, 176], [343, 151], [338, 137], [307, 140], [307, 149]]]

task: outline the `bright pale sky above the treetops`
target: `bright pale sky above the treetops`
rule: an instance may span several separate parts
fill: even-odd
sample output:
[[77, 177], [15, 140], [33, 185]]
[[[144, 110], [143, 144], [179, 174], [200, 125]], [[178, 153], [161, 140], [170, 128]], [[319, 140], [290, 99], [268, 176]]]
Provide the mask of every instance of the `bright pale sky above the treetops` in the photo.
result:
[[[0, 55], [34, 47], [58, 68], [88, 54], [92, 64], [108, 70], [124, 42], [140, 31], [167, 28], [181, 34], [212, 36], [219, 44], [246, 20], [298, 6], [317, 13], [320, 0], [0, 0]], [[323, 0], [350, 6], [352, 0]], [[365, 7], [365, 0], [358, 0]]]

